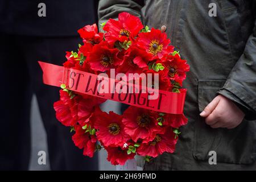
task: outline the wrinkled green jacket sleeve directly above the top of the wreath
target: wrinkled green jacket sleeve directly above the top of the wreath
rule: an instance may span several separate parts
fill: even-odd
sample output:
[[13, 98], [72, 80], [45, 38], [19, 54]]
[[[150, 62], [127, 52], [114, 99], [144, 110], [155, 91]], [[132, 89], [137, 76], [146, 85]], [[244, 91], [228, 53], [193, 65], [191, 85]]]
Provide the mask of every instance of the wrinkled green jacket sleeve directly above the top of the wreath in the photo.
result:
[[100, 0], [98, 5], [99, 24], [110, 18], [117, 19], [118, 14], [126, 11], [141, 18], [143, 0]]

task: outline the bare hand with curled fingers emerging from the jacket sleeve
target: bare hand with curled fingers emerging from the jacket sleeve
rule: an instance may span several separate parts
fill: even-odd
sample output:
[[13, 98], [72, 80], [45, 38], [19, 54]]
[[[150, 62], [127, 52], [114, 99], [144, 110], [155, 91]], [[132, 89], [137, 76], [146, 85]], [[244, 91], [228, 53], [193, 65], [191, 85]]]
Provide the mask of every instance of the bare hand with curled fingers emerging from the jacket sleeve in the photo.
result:
[[213, 129], [219, 127], [233, 129], [240, 125], [245, 117], [233, 101], [221, 95], [215, 97], [200, 115]]

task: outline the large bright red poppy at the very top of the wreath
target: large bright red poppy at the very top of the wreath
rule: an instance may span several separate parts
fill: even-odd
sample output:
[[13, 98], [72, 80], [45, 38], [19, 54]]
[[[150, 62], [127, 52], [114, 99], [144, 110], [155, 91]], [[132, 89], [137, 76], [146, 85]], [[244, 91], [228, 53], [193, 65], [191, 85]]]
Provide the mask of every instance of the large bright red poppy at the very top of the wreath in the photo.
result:
[[109, 19], [103, 30], [106, 31], [105, 39], [114, 44], [117, 40], [124, 42], [131, 40], [141, 31], [143, 25], [138, 17], [123, 12], [118, 15], [118, 20]]

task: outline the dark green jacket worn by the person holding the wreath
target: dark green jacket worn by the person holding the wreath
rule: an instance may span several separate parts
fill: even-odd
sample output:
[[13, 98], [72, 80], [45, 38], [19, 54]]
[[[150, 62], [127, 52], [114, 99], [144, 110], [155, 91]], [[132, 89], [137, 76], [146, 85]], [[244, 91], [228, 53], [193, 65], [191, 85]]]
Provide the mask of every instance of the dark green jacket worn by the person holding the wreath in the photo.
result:
[[[209, 16], [216, 3], [217, 16]], [[126, 11], [149, 27], [167, 27], [172, 45], [191, 66], [184, 113], [188, 124], [174, 154], [146, 163], [146, 170], [256, 169], [256, 1], [101, 0], [100, 22]], [[246, 114], [236, 129], [212, 129], [199, 113], [222, 94]], [[216, 151], [217, 165], [210, 165]]]

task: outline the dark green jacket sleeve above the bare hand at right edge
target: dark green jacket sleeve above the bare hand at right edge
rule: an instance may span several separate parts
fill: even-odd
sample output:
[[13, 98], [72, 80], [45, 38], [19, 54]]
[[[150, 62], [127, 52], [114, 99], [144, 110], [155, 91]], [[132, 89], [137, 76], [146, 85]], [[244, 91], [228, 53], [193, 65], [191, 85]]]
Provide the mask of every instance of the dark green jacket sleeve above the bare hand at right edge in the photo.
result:
[[256, 20], [245, 51], [218, 93], [234, 101], [246, 119], [256, 119]]

